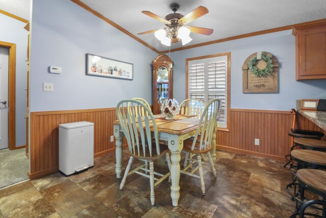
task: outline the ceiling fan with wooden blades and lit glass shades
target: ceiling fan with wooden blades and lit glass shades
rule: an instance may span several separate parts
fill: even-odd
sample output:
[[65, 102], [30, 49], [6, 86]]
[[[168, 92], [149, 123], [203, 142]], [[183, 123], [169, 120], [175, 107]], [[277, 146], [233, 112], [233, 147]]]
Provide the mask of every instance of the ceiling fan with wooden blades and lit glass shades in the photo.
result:
[[189, 34], [192, 33], [199, 33], [204, 35], [210, 35], [213, 33], [212, 29], [203, 28], [203, 27], [194, 27], [194, 26], [185, 26], [187, 23], [205, 15], [208, 13], [208, 9], [199, 6], [192, 12], [188, 13], [187, 15], [183, 16], [182, 14], [176, 13], [179, 9], [179, 5], [174, 3], [171, 4], [170, 8], [172, 9], [173, 13], [168, 14], [165, 18], [162, 18], [150, 11], [142, 11], [143, 14], [146, 14], [158, 21], [164, 22], [167, 26], [166, 28], [150, 30], [146, 32], [139, 33], [139, 35], [147, 34], [147, 33], [155, 33], [155, 37], [161, 41], [162, 44], [170, 46], [172, 43], [177, 43], [182, 40], [182, 45], [193, 40], [189, 37]]

